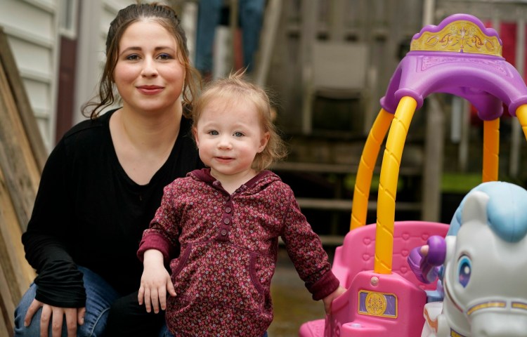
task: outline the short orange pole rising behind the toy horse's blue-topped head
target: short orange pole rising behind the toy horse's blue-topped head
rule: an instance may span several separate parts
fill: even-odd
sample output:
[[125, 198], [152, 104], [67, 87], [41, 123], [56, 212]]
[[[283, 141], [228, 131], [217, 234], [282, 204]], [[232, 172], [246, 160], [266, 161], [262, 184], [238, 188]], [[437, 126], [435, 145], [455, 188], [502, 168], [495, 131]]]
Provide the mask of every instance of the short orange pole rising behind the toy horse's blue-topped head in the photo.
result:
[[497, 180], [500, 162], [500, 118], [483, 121], [483, 183]]

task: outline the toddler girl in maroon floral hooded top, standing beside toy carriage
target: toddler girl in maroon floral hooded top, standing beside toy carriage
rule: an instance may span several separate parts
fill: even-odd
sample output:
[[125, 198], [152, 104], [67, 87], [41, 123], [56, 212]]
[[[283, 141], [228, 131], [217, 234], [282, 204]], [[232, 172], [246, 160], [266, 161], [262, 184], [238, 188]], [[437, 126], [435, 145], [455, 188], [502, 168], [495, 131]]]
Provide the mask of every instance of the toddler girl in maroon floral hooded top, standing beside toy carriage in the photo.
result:
[[282, 237], [306, 288], [329, 312], [345, 289], [291, 188], [266, 170], [285, 147], [265, 91], [240, 73], [212, 82], [197, 98], [193, 136], [207, 169], [165, 187], [138, 250], [139, 303], [167, 308], [174, 336], [262, 336], [273, 320]]

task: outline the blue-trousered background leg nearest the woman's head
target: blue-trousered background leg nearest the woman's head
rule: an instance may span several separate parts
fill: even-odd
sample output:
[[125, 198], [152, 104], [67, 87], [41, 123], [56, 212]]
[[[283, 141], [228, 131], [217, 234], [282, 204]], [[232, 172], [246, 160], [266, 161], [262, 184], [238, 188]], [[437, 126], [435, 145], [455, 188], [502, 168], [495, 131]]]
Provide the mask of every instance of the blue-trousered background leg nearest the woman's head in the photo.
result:
[[203, 77], [212, 74], [214, 35], [221, 15], [222, 0], [200, 0], [197, 10], [196, 69]]

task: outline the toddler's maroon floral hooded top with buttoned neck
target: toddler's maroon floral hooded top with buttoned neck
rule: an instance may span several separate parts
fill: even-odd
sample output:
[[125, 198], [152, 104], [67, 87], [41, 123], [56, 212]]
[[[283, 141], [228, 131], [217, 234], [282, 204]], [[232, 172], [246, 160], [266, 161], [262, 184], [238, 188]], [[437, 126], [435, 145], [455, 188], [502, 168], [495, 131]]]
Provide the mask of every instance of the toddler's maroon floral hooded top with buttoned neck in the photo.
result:
[[[339, 286], [317, 234], [291, 188], [262, 171], [233, 194], [209, 169], [165, 187], [143, 233], [138, 257], [158, 249], [170, 265], [177, 296], [169, 296], [174, 336], [262, 336], [273, 320], [271, 278], [278, 237], [314, 300]], [[178, 258], [176, 247], [181, 245]]]

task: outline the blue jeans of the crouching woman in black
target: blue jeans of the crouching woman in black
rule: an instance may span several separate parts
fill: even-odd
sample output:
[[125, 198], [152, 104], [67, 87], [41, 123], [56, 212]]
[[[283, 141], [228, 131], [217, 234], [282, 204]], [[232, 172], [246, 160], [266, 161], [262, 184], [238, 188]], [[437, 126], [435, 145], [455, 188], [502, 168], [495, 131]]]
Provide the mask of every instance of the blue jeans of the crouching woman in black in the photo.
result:
[[[112, 303], [119, 298], [119, 293], [115, 291], [108, 282], [84, 267], [79, 267], [84, 274], [84, 288], [86, 289], [86, 315], [84, 315], [84, 324], [77, 326], [77, 336], [104, 336], [108, 313]], [[30, 326], [24, 326], [24, 317], [27, 309], [30, 308], [37, 292], [37, 285], [32, 284], [30, 289], [22, 296], [22, 300], [15, 310], [15, 337], [34, 337], [40, 336], [40, 314], [38, 310], [31, 321]], [[167, 335], [166, 326], [160, 331], [159, 336]], [[51, 324], [48, 331], [51, 336]], [[67, 336], [66, 324], [63, 324], [62, 336]]]

